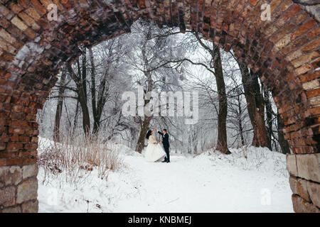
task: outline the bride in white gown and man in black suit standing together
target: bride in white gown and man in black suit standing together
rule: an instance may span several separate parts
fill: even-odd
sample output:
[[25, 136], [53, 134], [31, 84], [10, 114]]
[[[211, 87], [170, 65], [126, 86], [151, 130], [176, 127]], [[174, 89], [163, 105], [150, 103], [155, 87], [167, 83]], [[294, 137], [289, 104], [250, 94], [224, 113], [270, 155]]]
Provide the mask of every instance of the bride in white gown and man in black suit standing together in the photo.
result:
[[[146, 139], [148, 140], [148, 146], [146, 147], [146, 153], [144, 155], [147, 162], [156, 162], [164, 157], [163, 162], [170, 162], [170, 155], [169, 155], [169, 135], [166, 133], [166, 129], [162, 130], [162, 133], [159, 131], [158, 133], [162, 137], [162, 142], [156, 142], [156, 138], [152, 133], [157, 131], [156, 128], [154, 130], [149, 130], [146, 133]], [[163, 145], [163, 147], [161, 146]]]

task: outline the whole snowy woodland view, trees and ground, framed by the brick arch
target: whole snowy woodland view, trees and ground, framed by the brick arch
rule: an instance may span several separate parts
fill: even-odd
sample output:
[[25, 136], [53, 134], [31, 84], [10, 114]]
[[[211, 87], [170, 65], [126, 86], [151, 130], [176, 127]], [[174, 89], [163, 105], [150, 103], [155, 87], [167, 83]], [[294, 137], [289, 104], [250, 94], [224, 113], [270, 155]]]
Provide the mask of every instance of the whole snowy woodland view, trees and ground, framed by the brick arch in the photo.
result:
[[[292, 212], [283, 123], [263, 75], [233, 50], [146, 19], [80, 50], [38, 111], [39, 211]], [[198, 103], [179, 103], [177, 92]], [[140, 115], [151, 103], [161, 114]], [[170, 160], [159, 151], [163, 129]]]

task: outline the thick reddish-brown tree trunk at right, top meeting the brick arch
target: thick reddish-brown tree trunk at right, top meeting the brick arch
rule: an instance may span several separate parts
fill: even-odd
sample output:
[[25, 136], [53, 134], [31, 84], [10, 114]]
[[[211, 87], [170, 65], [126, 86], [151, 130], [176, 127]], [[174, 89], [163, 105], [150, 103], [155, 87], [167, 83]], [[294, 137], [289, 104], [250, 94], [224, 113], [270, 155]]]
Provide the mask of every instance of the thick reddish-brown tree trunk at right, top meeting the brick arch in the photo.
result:
[[260, 92], [257, 74], [249, 72], [246, 65], [238, 62], [242, 74], [242, 84], [245, 90], [247, 111], [253, 128], [252, 145], [267, 147], [267, 131], [265, 128], [265, 104]]

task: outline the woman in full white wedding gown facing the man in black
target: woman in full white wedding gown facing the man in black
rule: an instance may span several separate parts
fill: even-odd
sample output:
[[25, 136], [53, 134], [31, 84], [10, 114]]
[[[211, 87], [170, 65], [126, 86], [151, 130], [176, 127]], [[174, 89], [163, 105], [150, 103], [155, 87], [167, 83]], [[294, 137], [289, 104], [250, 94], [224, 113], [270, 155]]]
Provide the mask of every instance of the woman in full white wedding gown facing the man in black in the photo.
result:
[[156, 143], [156, 139], [154, 138], [154, 135], [152, 135], [151, 130], [146, 133], [146, 139], [148, 140], [148, 146], [146, 147], [144, 158], [147, 162], [156, 162], [166, 156], [164, 148], [162, 148], [159, 143]]

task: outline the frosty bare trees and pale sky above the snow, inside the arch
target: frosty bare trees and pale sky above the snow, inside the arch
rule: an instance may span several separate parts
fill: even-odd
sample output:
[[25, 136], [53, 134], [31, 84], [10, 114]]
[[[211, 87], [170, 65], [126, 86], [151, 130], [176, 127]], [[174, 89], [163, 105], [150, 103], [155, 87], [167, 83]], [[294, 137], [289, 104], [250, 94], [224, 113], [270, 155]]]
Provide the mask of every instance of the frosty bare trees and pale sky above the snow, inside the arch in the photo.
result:
[[[38, 112], [44, 138], [90, 136], [142, 153], [146, 132], [167, 128], [171, 153], [215, 148], [229, 154], [229, 148], [243, 145], [290, 153], [272, 94], [260, 83], [259, 72], [201, 34], [139, 20], [132, 33], [81, 50], [78, 60], [65, 62]], [[137, 86], [144, 87], [144, 94], [198, 91], [198, 123], [186, 125], [184, 116], [124, 116], [122, 94], [136, 92]]]

